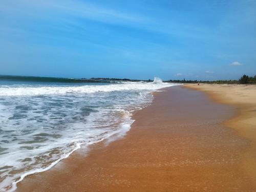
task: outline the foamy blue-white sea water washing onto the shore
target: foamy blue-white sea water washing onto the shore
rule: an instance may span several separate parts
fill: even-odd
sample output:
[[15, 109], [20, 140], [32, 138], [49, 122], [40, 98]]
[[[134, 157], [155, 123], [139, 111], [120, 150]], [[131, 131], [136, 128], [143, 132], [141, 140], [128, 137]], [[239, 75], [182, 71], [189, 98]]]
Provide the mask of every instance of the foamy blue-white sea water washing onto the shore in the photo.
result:
[[60, 83], [0, 80], [0, 190], [15, 190], [82, 145], [129, 131], [131, 113], [150, 94], [175, 84], [154, 82]]

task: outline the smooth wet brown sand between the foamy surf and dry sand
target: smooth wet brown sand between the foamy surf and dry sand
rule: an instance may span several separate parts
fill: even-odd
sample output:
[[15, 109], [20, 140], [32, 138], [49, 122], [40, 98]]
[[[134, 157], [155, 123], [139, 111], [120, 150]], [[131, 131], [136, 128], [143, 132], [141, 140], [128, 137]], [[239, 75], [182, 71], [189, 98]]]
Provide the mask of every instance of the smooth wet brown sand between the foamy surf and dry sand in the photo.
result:
[[164, 90], [122, 139], [77, 151], [17, 191], [253, 191], [243, 167], [251, 142], [222, 125], [235, 109], [200, 91]]

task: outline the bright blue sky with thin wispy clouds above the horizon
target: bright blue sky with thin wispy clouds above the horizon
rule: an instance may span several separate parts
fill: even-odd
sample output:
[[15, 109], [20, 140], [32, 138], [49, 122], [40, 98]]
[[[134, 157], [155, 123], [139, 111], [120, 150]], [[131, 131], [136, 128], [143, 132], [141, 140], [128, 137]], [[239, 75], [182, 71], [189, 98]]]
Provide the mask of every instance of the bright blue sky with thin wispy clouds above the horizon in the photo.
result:
[[4, 0], [0, 74], [254, 76], [256, 0]]

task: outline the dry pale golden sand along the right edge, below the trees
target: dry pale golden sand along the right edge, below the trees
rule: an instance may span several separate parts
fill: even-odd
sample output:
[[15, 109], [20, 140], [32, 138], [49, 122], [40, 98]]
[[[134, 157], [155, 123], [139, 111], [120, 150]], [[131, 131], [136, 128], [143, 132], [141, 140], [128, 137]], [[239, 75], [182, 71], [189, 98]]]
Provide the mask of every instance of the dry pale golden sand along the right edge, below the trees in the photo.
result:
[[224, 122], [236, 133], [250, 141], [242, 164], [246, 174], [256, 184], [256, 86], [242, 84], [185, 84], [184, 87], [204, 91], [210, 98], [219, 103], [234, 106], [237, 114]]

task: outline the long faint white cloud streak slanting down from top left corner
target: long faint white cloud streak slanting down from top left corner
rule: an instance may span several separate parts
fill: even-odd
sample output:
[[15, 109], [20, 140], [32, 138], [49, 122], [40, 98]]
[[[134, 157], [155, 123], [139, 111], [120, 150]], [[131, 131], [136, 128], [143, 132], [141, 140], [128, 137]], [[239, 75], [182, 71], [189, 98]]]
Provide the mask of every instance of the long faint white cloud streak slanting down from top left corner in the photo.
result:
[[[131, 10], [125, 10], [125, 8], [116, 9], [77, 0], [17, 0], [15, 4], [16, 6], [13, 6], [12, 2], [4, 2], [0, 5], [0, 12], [12, 13], [16, 16], [27, 16], [28, 18], [39, 18], [40, 20], [54, 20], [63, 28], [67, 28], [74, 21], [77, 23], [77, 20], [92, 20], [94, 22], [121, 25], [168, 36], [193, 39], [210, 38], [206, 35], [209, 34], [208, 29], [204, 27], [179, 23], [174, 20], [159, 20], [158, 17], [142, 15], [139, 12], [135, 13]], [[80, 26], [84, 27], [82, 24]]]

